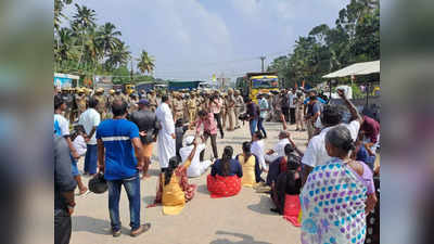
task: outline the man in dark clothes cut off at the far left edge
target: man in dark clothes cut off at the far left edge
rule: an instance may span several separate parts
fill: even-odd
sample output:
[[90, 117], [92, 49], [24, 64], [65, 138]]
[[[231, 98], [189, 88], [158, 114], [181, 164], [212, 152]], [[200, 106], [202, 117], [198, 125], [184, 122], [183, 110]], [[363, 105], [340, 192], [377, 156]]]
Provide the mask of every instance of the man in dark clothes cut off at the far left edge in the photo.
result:
[[54, 243], [68, 244], [71, 216], [74, 213], [74, 190], [77, 185], [71, 171], [69, 149], [66, 141], [54, 136]]

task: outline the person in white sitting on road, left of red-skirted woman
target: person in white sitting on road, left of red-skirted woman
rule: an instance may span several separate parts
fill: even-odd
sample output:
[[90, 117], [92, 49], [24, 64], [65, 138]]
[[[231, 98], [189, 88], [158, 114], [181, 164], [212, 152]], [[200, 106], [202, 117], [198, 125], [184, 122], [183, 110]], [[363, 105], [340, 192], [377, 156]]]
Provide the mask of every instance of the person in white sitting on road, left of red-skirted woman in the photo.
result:
[[[190, 156], [191, 151], [194, 149], [194, 137], [189, 136], [184, 139], [183, 144], [186, 146], [179, 150], [179, 154], [181, 155], [182, 163], [186, 163], [187, 158]], [[190, 167], [187, 169], [188, 177], [200, 177], [202, 176], [208, 167], [212, 165], [210, 160], [200, 160], [200, 154], [205, 150], [205, 144], [201, 143], [196, 147], [196, 153], [194, 154], [193, 159], [191, 160]]]

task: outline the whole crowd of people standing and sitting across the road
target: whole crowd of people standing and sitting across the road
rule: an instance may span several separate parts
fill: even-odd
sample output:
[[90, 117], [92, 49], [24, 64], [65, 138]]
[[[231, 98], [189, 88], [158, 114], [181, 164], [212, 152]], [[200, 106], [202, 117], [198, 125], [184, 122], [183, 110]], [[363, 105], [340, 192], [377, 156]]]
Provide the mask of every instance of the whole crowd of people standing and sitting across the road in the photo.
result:
[[[366, 217], [379, 197], [374, 162], [380, 124], [361, 116], [341, 90], [346, 108], [328, 104], [315, 90], [295, 88], [259, 93], [257, 102], [232, 89], [131, 95], [120, 90], [108, 95], [102, 89], [75, 91], [54, 94], [55, 243], [69, 241], [76, 185], [79, 195], [89, 191], [77, 166], [80, 157], [85, 175], [101, 174], [106, 181], [113, 236], [122, 234], [122, 185], [129, 201], [130, 235], [146, 232], [151, 223], [140, 219], [140, 185], [150, 177], [155, 143], [161, 174], [155, 204], [148, 207], [163, 205], [165, 215], [183, 209], [196, 190], [189, 178], [210, 168], [206, 182], [212, 197], [237, 195], [243, 187], [268, 193], [276, 205], [270, 210], [301, 227], [304, 244], [363, 243], [372, 241], [367, 234], [378, 234], [367, 231]], [[344, 108], [349, 121], [344, 121]], [[238, 154], [225, 146], [219, 157], [218, 133], [224, 139], [225, 131], [245, 121], [251, 140], [240, 141]], [[269, 150], [265, 121], [282, 125], [279, 141]], [[296, 131], [307, 129], [304, 152], [291, 139], [288, 124]], [[212, 156], [205, 159], [208, 139]]]

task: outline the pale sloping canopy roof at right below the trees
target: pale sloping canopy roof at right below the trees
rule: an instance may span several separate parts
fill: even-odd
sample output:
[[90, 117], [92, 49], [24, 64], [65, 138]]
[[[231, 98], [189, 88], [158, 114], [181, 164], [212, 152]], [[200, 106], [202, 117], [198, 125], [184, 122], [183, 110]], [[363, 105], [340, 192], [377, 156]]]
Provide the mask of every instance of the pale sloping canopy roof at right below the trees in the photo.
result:
[[339, 78], [353, 75], [369, 75], [374, 73], [380, 73], [380, 61], [352, 64], [345, 68], [322, 76], [322, 78]]

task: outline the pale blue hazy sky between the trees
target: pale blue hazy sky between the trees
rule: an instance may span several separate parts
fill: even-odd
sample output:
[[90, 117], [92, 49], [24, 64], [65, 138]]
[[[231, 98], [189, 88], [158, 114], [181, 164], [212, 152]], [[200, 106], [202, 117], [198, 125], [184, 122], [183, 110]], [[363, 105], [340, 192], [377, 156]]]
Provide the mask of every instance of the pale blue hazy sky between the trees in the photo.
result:
[[[320, 24], [334, 26], [349, 0], [74, 0], [113, 23], [135, 57], [155, 57], [154, 76], [210, 80], [260, 72]], [[66, 15], [74, 4], [65, 9]]]

